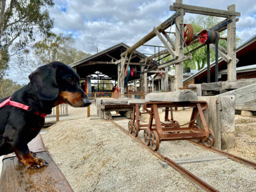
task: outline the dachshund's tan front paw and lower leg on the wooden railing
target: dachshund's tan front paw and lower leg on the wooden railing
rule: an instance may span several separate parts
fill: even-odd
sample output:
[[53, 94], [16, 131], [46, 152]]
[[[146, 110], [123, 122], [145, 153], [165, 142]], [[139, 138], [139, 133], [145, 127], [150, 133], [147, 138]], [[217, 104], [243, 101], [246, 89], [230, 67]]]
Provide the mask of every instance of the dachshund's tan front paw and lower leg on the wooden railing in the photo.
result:
[[43, 166], [47, 166], [48, 162], [41, 158], [35, 158], [32, 154], [30, 154], [30, 151], [28, 149], [28, 146], [24, 145], [22, 149], [14, 148], [14, 152], [22, 163], [24, 163], [26, 166], [29, 166], [32, 169], [41, 168]]

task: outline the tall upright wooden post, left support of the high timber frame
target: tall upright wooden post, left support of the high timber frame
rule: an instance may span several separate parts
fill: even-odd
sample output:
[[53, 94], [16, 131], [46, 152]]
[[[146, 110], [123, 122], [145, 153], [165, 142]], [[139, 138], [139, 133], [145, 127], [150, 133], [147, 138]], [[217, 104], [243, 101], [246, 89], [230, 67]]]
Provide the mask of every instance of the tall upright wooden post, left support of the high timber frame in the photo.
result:
[[[176, 3], [182, 4], [182, 0], [176, 0]], [[178, 26], [180, 33], [184, 33], [184, 26], [183, 26], [183, 17], [184, 17], [184, 9], [176, 9], [176, 13], [180, 12], [180, 15], [175, 19], [176, 25]], [[176, 28], [175, 32], [175, 51], [178, 54], [179, 58], [184, 57], [183, 53], [183, 41], [180, 37], [180, 33]], [[180, 87], [183, 85], [183, 62], [177, 63], [175, 65], [175, 91], [178, 91]]]

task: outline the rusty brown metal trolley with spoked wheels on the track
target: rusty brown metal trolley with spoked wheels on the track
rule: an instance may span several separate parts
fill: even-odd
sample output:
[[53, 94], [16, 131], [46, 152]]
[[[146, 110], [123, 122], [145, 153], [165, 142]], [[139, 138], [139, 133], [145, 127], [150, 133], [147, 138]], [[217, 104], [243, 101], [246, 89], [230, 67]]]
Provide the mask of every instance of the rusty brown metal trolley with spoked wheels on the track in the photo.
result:
[[[175, 107], [190, 107], [193, 108], [190, 122], [180, 125], [173, 120], [173, 109]], [[144, 130], [143, 137], [146, 145], [150, 145], [153, 150], [158, 150], [161, 141], [172, 140], [194, 140], [202, 142], [206, 147], [211, 147], [214, 144], [215, 137], [212, 130], [208, 129], [203, 111], [208, 107], [205, 101], [190, 101], [190, 102], [145, 102], [144, 110], [150, 114], [148, 123], [140, 122], [139, 105], [134, 105], [133, 120], [129, 121], [129, 132], [134, 136], [138, 136], [139, 130]], [[151, 110], [149, 110], [150, 108]], [[158, 108], [165, 109], [164, 121], [160, 120]], [[168, 114], [171, 114], [171, 119], [168, 119]], [[153, 118], [155, 124], [153, 124]], [[196, 119], [200, 118], [202, 129], [196, 124]], [[188, 125], [185, 127], [185, 125]], [[184, 126], [184, 127], [183, 127]]]

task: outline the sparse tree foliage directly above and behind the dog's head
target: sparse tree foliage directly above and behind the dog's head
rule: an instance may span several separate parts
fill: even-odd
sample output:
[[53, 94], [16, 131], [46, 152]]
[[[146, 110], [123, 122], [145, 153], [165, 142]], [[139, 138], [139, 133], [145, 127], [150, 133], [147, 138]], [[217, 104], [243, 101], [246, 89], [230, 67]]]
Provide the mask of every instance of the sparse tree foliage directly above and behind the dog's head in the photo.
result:
[[64, 36], [51, 33], [44, 40], [36, 42], [30, 50], [25, 49], [17, 56], [17, 71], [22, 78], [27, 78], [27, 73], [32, 72], [39, 66], [49, 64], [53, 61], [60, 61], [71, 64], [90, 56], [83, 51], [74, 48], [74, 38], [72, 34]]

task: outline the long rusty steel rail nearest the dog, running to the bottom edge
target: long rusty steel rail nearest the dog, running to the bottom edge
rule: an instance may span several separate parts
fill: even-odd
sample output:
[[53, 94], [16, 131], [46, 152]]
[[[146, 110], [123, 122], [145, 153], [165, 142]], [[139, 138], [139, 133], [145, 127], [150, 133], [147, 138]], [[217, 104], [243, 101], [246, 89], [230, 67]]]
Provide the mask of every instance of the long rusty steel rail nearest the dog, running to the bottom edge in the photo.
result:
[[168, 163], [170, 166], [172, 166], [172, 168], [174, 168], [175, 170], [177, 170], [180, 174], [182, 174], [183, 176], [187, 177], [188, 179], [190, 179], [191, 181], [193, 181], [195, 184], [197, 184], [198, 186], [200, 186], [202, 189], [206, 190], [207, 192], [219, 192], [218, 190], [216, 190], [215, 188], [213, 188], [212, 186], [210, 186], [209, 184], [207, 184], [206, 182], [204, 182], [203, 180], [201, 180], [200, 178], [198, 178], [197, 176], [195, 176], [194, 174], [192, 174], [191, 172], [189, 172], [188, 170], [184, 169], [182, 166], [180, 166], [179, 164], [177, 164], [176, 162], [174, 162], [173, 160], [171, 160], [168, 157], [164, 157], [162, 154], [160, 154], [157, 151], [152, 150], [149, 146], [147, 146], [146, 144], [144, 144], [144, 142], [142, 142], [139, 138], [135, 137], [132, 134], [129, 134], [128, 131], [126, 131], [124, 128], [122, 128], [122, 126], [118, 125], [116, 122], [114, 122], [113, 120], [110, 120], [110, 122], [112, 124], [114, 124], [115, 126], [117, 126], [118, 128], [120, 128], [120, 130], [122, 130], [123, 132], [125, 132], [126, 134], [128, 134], [130, 137], [132, 137], [133, 139], [135, 139], [139, 144], [141, 144], [144, 148], [146, 148], [148, 151], [150, 151], [153, 155], [155, 155], [157, 158], [159, 158], [160, 160]]

